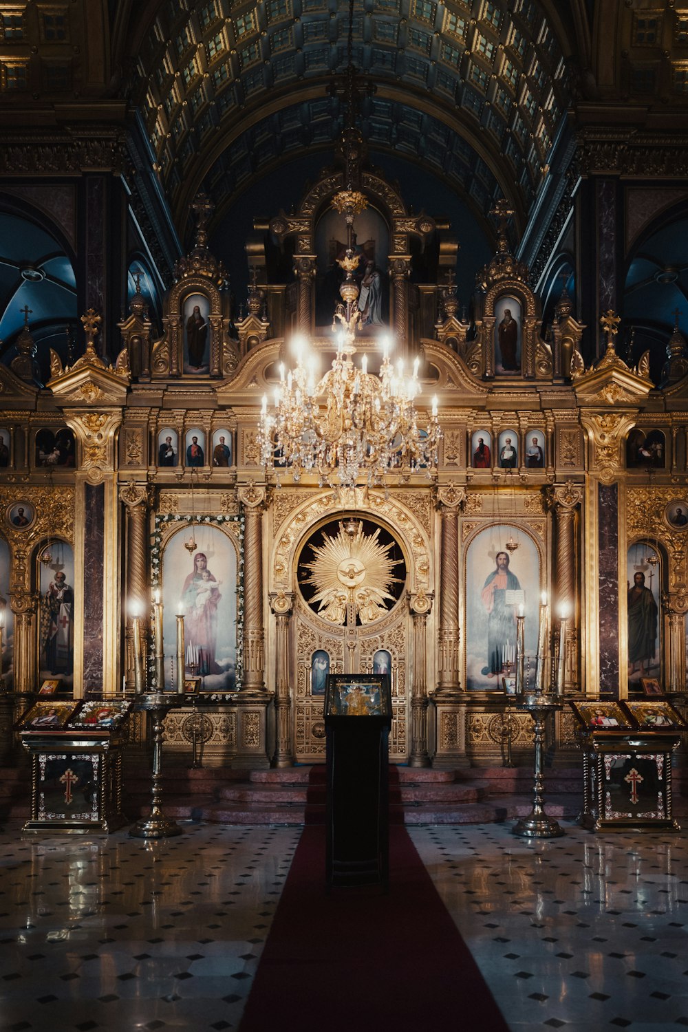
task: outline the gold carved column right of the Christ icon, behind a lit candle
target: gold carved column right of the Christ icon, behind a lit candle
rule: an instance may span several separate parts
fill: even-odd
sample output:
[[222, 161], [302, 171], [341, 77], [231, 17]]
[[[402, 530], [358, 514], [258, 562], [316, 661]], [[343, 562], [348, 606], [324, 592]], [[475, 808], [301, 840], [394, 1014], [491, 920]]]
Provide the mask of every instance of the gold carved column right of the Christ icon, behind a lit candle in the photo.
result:
[[565, 606], [566, 642], [564, 660], [564, 689], [577, 690], [580, 676], [578, 669], [579, 623], [576, 610], [576, 510], [583, 501], [583, 487], [567, 483], [554, 486], [549, 491], [549, 502], [555, 517], [555, 588], [556, 602], [552, 607], [556, 625], [559, 609]]

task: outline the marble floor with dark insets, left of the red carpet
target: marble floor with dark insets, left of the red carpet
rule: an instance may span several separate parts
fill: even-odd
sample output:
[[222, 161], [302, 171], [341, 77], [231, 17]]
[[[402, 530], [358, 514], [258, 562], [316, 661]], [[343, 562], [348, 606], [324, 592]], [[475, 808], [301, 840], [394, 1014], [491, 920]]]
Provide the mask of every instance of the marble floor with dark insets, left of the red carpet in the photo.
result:
[[0, 1029], [235, 1029], [300, 829], [0, 835]]

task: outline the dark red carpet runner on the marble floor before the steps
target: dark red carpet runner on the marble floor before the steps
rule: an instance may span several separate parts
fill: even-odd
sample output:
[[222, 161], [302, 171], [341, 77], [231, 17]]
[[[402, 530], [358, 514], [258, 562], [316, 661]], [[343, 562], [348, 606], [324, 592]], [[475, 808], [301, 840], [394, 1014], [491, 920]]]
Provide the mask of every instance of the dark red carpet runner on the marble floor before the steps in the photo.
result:
[[404, 828], [390, 892], [325, 892], [325, 829], [306, 827], [240, 1032], [506, 1032]]

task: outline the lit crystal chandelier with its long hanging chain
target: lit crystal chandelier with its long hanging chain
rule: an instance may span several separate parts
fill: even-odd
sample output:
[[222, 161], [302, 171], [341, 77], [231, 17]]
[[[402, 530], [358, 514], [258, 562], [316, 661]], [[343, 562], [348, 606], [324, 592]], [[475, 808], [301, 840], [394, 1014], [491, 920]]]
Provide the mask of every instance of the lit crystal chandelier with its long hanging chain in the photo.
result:
[[332, 198], [332, 207], [347, 224], [347, 248], [337, 263], [345, 273], [339, 287], [341, 303], [336, 305], [332, 330], [336, 354], [331, 368], [316, 379], [316, 361], [305, 342], [296, 343], [296, 367], [280, 366], [280, 386], [274, 406], [267, 396], [259, 422], [261, 461], [268, 470], [275, 464], [289, 469], [295, 481], [303, 474], [317, 474], [322, 485], [351, 488], [356, 484], [384, 485], [393, 471], [424, 470], [429, 477], [437, 465], [441, 437], [437, 398], [421, 427], [415, 398], [421, 391], [418, 380], [420, 359], [413, 374], [404, 372], [403, 360], [390, 360], [389, 344], [383, 346], [380, 375], [368, 373], [367, 355], [356, 364], [356, 333], [361, 312], [359, 285], [354, 279], [360, 255], [354, 241], [354, 218], [367, 206], [356, 174], [364, 152], [363, 139], [354, 124], [354, 74], [352, 62], [352, 9], [350, 3], [349, 66], [347, 68], [347, 124], [340, 150], [345, 159], [346, 188]]

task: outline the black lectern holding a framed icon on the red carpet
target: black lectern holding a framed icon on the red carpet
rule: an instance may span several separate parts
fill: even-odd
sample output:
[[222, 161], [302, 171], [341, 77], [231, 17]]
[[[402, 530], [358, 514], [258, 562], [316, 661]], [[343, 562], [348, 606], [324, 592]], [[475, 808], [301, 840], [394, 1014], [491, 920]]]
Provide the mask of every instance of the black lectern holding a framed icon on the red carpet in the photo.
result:
[[389, 675], [328, 675], [328, 886], [389, 884], [391, 723]]

